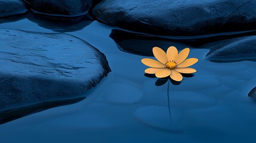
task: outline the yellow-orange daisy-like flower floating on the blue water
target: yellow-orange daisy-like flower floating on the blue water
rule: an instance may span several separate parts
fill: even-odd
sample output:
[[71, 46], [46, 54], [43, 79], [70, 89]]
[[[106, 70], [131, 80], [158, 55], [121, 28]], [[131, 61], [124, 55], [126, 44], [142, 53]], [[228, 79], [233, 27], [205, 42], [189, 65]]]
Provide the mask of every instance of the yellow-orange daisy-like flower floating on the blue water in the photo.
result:
[[196, 72], [195, 69], [189, 68], [189, 66], [198, 62], [198, 59], [186, 59], [189, 55], [189, 51], [189, 48], [185, 48], [178, 54], [177, 48], [175, 48], [175, 46], [170, 46], [167, 49], [166, 54], [161, 48], [154, 47], [153, 54], [158, 61], [150, 58], [143, 58], [141, 62], [150, 67], [145, 70], [145, 73], [156, 74], [156, 77], [159, 78], [170, 76], [173, 80], [181, 81], [183, 77], [180, 73]]

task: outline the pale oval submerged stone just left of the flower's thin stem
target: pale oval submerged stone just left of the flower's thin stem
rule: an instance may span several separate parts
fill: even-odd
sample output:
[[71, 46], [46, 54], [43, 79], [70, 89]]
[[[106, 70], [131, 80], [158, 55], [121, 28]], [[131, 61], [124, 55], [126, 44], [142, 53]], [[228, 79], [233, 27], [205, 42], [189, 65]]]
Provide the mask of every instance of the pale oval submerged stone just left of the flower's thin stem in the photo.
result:
[[116, 104], [134, 104], [143, 97], [143, 92], [139, 88], [126, 83], [113, 83], [106, 87], [104, 94], [107, 101]]

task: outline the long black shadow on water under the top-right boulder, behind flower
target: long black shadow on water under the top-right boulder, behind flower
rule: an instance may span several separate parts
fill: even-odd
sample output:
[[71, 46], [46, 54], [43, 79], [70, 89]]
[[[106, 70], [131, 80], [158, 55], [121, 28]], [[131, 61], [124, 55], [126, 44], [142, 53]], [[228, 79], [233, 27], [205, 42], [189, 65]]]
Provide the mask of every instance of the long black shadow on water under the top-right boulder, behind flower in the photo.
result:
[[[110, 33], [110, 38], [115, 41], [116, 45], [121, 51], [135, 55], [153, 56], [152, 48], [154, 46], [159, 46], [164, 49], [164, 51], [166, 51], [169, 46], [176, 46], [178, 50], [186, 47], [205, 48], [203, 45], [206, 43], [251, 35], [256, 35], [256, 30], [248, 32], [233, 32], [226, 35], [224, 33], [218, 33], [211, 36], [184, 36], [182, 38], [175, 38], [168, 36], [146, 35], [143, 33], [133, 33], [125, 30], [113, 29]], [[186, 47], [184, 47], [184, 45]]]

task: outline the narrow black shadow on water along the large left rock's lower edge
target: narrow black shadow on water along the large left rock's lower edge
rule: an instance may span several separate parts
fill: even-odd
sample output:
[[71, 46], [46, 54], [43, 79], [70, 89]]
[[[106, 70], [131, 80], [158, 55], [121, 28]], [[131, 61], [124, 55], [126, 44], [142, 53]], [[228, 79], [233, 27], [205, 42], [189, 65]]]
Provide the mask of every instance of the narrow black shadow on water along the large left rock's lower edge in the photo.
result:
[[39, 104], [28, 105], [25, 107], [0, 111], [0, 125], [7, 122], [11, 122], [12, 120], [16, 120], [24, 116], [28, 116], [33, 113], [38, 113], [40, 111], [50, 109], [50, 108], [69, 105], [69, 104], [75, 104], [76, 102], [80, 102], [84, 99], [85, 97], [79, 97], [79, 98], [70, 99], [70, 100], [49, 101], [49, 102], [42, 102]]

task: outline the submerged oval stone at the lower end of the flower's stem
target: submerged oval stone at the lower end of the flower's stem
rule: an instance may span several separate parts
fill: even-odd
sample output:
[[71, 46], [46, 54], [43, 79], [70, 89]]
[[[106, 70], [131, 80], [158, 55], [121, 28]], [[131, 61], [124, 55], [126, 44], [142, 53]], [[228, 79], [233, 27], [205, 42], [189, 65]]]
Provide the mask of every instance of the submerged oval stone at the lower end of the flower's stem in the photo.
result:
[[134, 115], [140, 122], [147, 126], [178, 132], [181, 131], [179, 123], [182, 113], [173, 108], [171, 108], [171, 119], [168, 107], [153, 105], [138, 108], [135, 110]]

